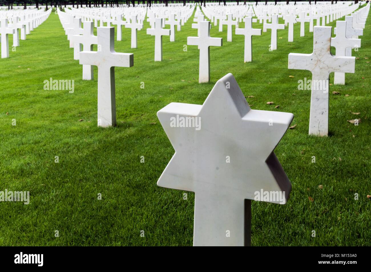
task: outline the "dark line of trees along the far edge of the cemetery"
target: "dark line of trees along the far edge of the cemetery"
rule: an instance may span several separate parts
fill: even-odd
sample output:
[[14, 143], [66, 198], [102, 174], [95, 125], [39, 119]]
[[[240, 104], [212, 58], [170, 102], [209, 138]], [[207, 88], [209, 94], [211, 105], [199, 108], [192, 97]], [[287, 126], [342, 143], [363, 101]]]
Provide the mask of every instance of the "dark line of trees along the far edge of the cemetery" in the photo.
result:
[[[316, 3], [317, 1], [311, 1], [311, 0], [301, 0], [301, 1], [309, 1], [309, 3], [311, 2], [314, 2]], [[227, 2], [237, 2], [237, 5], [238, 4], [243, 4], [246, 5], [246, 2], [256, 2], [256, 4], [258, 2], [265, 2], [265, 4], [267, 4], [267, 0], [257, 0], [257, 1], [246, 1], [246, 0], [233, 0], [233, 1], [220, 1], [220, 0], [179, 0], [179, 1], [176, 1], [176, 0], [126, 0], [126, 1], [116, 1], [116, 0], [72, 0], [72, 1], [63, 1], [63, 0], [50, 0], [50, 1], [43, 1], [43, 0], [28, 0], [28, 1], [24, 1], [24, 0], [0, 0], [0, 6], [7, 6], [8, 9], [13, 9], [13, 6], [23, 6], [24, 9], [26, 9], [26, 6], [36, 6], [36, 8], [39, 8], [39, 5], [41, 6], [59, 6], [59, 7], [65, 7], [67, 5], [72, 5], [73, 7], [76, 7], [76, 8], [79, 8], [82, 7], [82, 5], [86, 5], [88, 7], [104, 7], [104, 6], [110, 6], [110, 7], [114, 7], [114, 6], [119, 6], [119, 5], [127, 5], [127, 6], [135, 6], [136, 4], [146, 4], [147, 7], [151, 7], [151, 4], [165, 4], [165, 6], [167, 6], [169, 3], [183, 3], [183, 5], [185, 6], [185, 4], [187, 3], [199, 3], [200, 5], [203, 5], [205, 6], [206, 5], [206, 2], [210, 3], [210, 2], [213, 2], [213, 3], [217, 3], [219, 2], [219, 5], [220, 4], [223, 4], [224, 6], [227, 4]], [[275, 0], [274, 1], [275, 4], [277, 4], [278, 2], [285, 2], [284, 0], [280, 1], [280, 0]], [[287, 0], [286, 3], [288, 4], [289, 1]], [[334, 1], [334, 0], [331, 0], [331, 3], [334, 4], [334, 3], [337, 3], [337, 1]], [[355, 0], [355, 3], [358, 3], [358, 0]], [[296, 4], [296, 1], [295, 1], [295, 4]], [[47, 9], [47, 8], [46, 8]]]

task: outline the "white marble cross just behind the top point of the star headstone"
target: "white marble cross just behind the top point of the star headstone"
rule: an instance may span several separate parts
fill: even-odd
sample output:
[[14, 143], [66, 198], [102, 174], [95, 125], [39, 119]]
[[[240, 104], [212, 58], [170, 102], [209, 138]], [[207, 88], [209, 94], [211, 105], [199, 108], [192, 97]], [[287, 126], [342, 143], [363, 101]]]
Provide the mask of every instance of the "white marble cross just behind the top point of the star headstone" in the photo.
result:
[[222, 46], [222, 38], [210, 37], [210, 22], [203, 21], [198, 23], [200, 36], [187, 37], [187, 45], [198, 45], [200, 49], [200, 65], [199, 65], [199, 83], [210, 81], [210, 46]]

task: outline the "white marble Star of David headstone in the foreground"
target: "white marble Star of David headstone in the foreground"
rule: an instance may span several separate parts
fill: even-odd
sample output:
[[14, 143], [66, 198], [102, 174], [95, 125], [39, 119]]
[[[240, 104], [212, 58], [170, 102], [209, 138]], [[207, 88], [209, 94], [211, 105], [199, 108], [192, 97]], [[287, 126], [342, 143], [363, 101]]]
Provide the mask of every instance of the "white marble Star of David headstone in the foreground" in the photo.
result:
[[273, 150], [293, 114], [250, 109], [229, 73], [203, 105], [170, 103], [157, 117], [175, 150], [157, 185], [195, 193], [193, 245], [249, 245], [251, 200], [285, 204], [289, 197]]

